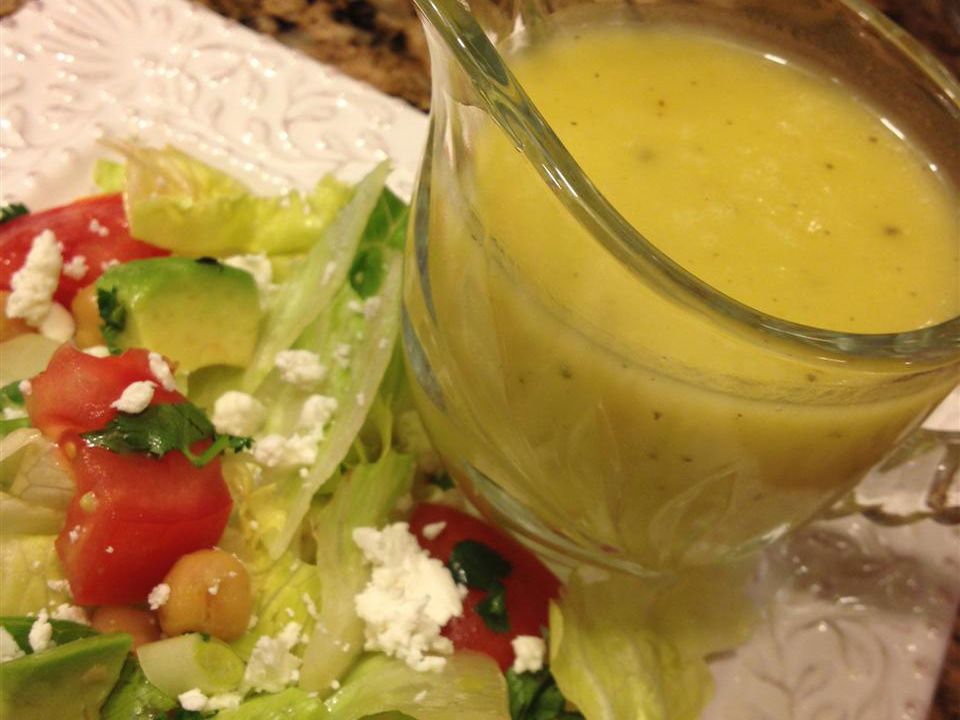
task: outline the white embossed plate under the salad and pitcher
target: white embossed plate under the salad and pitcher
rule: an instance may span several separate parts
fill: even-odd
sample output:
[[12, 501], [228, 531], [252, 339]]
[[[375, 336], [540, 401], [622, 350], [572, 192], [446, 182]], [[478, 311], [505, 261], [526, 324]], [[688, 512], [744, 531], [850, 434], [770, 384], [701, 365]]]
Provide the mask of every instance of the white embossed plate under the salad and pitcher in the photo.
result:
[[[259, 189], [353, 179], [409, 194], [426, 118], [182, 0], [48, 0], [0, 23], [0, 196], [92, 189], [104, 135], [169, 142]], [[924, 475], [930, 458], [906, 468]], [[767, 557], [779, 589], [714, 663], [705, 720], [923, 720], [960, 599], [960, 532], [820, 524]]]

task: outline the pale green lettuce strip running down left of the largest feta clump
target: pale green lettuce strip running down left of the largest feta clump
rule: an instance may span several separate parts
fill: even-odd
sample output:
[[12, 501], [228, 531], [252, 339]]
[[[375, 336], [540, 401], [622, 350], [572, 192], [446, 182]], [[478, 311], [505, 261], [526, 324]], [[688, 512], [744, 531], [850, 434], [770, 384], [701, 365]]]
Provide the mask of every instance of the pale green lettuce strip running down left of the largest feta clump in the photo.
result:
[[329, 691], [363, 650], [363, 621], [354, 597], [370, 570], [353, 542], [358, 527], [380, 527], [413, 479], [413, 458], [386, 452], [376, 463], [358, 465], [330, 501], [312, 517], [317, 567], [327, 582], [320, 591], [320, 614], [303, 655], [300, 687]]

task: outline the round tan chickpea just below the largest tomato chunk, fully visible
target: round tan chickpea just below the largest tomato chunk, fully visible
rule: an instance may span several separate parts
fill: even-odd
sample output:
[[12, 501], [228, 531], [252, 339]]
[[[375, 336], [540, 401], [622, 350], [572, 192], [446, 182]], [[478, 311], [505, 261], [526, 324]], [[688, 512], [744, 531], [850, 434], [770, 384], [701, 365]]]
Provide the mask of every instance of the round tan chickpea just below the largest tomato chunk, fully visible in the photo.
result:
[[167, 635], [202, 632], [229, 642], [246, 632], [253, 609], [250, 576], [230, 553], [214, 548], [184, 555], [164, 582], [170, 597], [159, 615]]

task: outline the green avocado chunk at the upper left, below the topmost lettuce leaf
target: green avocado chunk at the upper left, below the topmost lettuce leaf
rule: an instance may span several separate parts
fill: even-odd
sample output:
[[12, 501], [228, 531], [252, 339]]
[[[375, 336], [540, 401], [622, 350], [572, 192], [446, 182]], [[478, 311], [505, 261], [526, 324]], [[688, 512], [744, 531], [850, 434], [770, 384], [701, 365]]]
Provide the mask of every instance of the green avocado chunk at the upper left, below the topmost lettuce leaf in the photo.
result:
[[186, 372], [247, 365], [260, 323], [253, 276], [212, 258], [163, 257], [109, 268], [97, 280], [111, 350], [141, 347]]

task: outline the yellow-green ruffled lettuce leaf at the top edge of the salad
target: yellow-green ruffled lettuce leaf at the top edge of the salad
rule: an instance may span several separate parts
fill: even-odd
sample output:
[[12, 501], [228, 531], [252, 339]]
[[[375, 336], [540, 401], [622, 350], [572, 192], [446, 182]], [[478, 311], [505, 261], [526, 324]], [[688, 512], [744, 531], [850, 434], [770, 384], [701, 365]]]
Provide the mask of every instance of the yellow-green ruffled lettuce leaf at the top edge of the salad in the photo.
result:
[[[350, 188], [332, 177], [303, 194], [258, 197], [176, 148], [112, 146], [127, 160], [124, 202], [131, 233], [180, 255], [304, 252], [350, 197]], [[114, 186], [119, 172], [106, 168], [99, 180]]]

